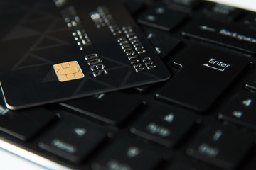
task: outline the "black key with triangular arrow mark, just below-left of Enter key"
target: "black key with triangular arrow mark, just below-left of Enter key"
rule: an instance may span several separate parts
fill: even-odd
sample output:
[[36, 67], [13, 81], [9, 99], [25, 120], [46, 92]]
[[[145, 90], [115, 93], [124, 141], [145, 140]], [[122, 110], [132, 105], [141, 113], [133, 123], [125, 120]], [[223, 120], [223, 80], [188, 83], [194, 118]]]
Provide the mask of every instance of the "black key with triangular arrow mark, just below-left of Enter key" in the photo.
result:
[[174, 147], [195, 123], [193, 113], [156, 105], [132, 126], [131, 132], [166, 147]]

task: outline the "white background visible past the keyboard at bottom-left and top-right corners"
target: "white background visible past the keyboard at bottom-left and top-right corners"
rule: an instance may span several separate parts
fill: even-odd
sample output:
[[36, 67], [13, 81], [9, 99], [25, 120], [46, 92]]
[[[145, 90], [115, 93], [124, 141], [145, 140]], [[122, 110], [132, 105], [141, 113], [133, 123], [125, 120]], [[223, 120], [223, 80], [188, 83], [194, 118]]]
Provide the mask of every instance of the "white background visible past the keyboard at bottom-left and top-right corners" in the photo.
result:
[[[238, 6], [240, 8], [246, 8], [251, 11], [256, 11], [256, 1], [255, 0], [211, 0], [216, 1], [222, 4], [229, 4], [232, 6]], [[18, 169], [18, 170], [42, 170], [44, 169], [41, 166], [33, 164], [26, 161], [25, 159], [18, 157], [10, 152], [6, 152], [3, 149], [0, 149], [0, 169], [9, 170], [9, 169]]]

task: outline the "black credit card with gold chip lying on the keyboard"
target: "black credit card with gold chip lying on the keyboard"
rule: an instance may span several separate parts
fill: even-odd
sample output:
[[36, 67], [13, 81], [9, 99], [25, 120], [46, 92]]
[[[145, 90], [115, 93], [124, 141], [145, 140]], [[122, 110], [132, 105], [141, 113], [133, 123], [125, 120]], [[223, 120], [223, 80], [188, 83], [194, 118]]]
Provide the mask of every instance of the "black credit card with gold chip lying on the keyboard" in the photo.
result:
[[[0, 81], [19, 109], [169, 79], [119, 1], [6, 1], [1, 11]], [[11, 18], [8, 11], [15, 11]], [[2, 28], [3, 27], [3, 28]]]

